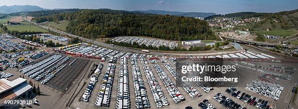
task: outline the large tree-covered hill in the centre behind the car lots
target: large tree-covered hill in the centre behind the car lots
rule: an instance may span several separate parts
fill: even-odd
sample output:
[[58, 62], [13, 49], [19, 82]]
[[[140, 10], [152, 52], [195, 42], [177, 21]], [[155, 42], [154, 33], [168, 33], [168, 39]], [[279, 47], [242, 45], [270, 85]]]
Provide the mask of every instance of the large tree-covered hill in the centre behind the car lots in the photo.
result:
[[67, 32], [87, 38], [151, 36], [168, 40], [217, 39], [207, 21], [179, 16], [101, 9], [60, 13], [33, 20], [37, 23], [69, 20]]

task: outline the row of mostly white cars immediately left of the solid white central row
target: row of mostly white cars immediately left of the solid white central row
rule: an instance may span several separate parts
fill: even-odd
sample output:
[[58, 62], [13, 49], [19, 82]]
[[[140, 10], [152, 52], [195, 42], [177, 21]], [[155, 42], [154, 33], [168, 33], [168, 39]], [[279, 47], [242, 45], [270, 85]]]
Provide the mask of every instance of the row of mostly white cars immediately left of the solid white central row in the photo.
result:
[[111, 102], [111, 93], [112, 93], [112, 84], [115, 73], [116, 65], [109, 63], [106, 71], [104, 73], [104, 77], [101, 81], [100, 90], [98, 92], [95, 106], [104, 106], [109, 107]]

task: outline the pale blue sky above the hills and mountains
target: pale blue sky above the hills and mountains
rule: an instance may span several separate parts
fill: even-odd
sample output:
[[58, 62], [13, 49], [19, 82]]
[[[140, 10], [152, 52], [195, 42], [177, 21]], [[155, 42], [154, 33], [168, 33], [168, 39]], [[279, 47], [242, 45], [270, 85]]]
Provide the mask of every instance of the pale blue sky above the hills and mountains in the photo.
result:
[[37, 5], [42, 8], [109, 8], [182, 12], [280, 12], [298, 9], [298, 0], [0, 0], [1, 5]]

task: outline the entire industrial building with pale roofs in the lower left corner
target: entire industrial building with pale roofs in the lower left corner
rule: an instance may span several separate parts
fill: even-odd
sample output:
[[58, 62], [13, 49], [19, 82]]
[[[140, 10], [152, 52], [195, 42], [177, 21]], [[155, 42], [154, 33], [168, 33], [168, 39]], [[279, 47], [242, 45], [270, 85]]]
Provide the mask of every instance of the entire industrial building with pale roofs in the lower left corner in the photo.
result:
[[32, 86], [27, 83], [26, 79], [18, 78], [13, 81], [4, 78], [0, 79], [0, 107], [5, 105], [4, 102], [6, 100], [25, 99], [31, 93]]

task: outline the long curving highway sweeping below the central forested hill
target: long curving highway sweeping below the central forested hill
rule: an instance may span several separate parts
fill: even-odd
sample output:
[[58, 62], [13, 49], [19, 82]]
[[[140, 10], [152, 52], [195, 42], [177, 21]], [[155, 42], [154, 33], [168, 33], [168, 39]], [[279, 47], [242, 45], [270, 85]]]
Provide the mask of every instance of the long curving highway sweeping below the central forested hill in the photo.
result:
[[80, 40], [82, 41], [85, 41], [87, 43], [92, 43], [94, 45], [99, 45], [101, 47], [104, 47], [104, 48], [108, 48], [108, 49], [113, 49], [113, 50], [118, 50], [118, 51], [124, 51], [124, 52], [132, 52], [132, 53], [142, 53], [142, 54], [150, 54], [150, 55], [173, 55], [173, 56], [190, 56], [190, 55], [221, 55], [221, 54], [229, 54], [229, 53], [235, 53], [235, 51], [225, 51], [225, 52], [216, 52], [216, 53], [200, 53], [200, 54], [189, 54], [189, 53], [179, 53], [179, 54], [169, 54], [169, 53], [156, 53], [156, 52], [150, 52], [150, 53], [144, 53], [142, 51], [138, 51], [138, 50], [133, 50], [133, 49], [129, 49], [129, 48], [126, 48], [126, 47], [123, 47], [123, 46], [111, 46], [110, 44], [107, 44], [107, 43], [103, 43], [103, 42], [99, 42], [99, 41], [95, 41], [95, 40], [91, 40], [91, 39], [88, 39], [88, 38], [84, 38], [84, 37], [80, 37], [80, 36], [75, 36], [75, 35], [72, 35], [72, 34], [69, 34], [69, 33], [66, 33], [66, 32], [63, 32], [63, 31], [60, 31], [60, 30], [57, 30], [57, 29], [54, 29], [54, 28], [51, 28], [51, 27], [47, 27], [47, 26], [43, 26], [43, 25], [39, 25], [38, 23], [35, 23], [33, 21], [30, 21], [28, 20], [25, 16], [23, 17], [23, 19], [29, 23], [32, 23], [34, 25], [37, 25], [41, 28], [44, 28], [44, 29], [47, 29], [47, 30], [50, 30], [50, 31], [53, 31], [53, 32], [56, 32], [58, 34], [61, 34], [61, 35], [65, 35], [65, 36], [70, 36], [70, 37], [78, 37]]

